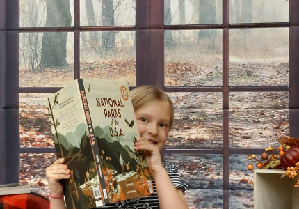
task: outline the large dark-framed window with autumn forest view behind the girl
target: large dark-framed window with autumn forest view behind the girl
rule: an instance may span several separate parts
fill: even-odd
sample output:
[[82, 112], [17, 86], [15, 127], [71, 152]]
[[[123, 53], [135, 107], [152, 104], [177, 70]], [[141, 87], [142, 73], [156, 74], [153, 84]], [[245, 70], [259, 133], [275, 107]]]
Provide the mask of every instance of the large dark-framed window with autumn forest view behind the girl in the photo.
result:
[[190, 208], [253, 207], [246, 155], [299, 137], [298, 10], [295, 0], [1, 1], [0, 183], [47, 196], [45, 98], [79, 77], [123, 79], [172, 98], [163, 156], [179, 165]]

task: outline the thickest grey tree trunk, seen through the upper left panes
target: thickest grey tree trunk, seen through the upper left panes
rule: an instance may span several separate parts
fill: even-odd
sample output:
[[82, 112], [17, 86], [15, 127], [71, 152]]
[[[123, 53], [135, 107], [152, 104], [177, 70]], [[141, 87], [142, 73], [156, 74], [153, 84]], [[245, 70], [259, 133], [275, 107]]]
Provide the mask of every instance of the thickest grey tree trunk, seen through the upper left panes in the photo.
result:
[[[71, 25], [70, 1], [47, 0], [46, 27]], [[43, 68], [62, 67], [67, 64], [67, 33], [44, 33], [42, 36]]]

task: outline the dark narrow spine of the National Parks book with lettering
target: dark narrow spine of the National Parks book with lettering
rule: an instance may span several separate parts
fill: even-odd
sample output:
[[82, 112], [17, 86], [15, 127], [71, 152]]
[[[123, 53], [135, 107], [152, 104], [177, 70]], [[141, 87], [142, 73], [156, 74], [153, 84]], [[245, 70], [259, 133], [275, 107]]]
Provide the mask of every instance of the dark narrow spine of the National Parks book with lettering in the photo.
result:
[[95, 158], [95, 164], [97, 165], [97, 173], [99, 176], [99, 184], [101, 187], [101, 193], [102, 193], [102, 201], [103, 204], [106, 205], [109, 202], [108, 199], [108, 195], [107, 195], [107, 189], [106, 189], [106, 183], [105, 183], [105, 178], [103, 176], [103, 171], [102, 171], [102, 162], [101, 162], [101, 157], [99, 155], [99, 148], [97, 146], [97, 140], [95, 139], [95, 132], [93, 129], [93, 125], [92, 125], [92, 119], [90, 116], [90, 111], [89, 111], [89, 107], [88, 107], [88, 101], [86, 98], [86, 91], [84, 88], [84, 84], [83, 84], [83, 80], [82, 79], [78, 79], [78, 84], [79, 84], [79, 91], [80, 91], [80, 95], [81, 95], [81, 101], [83, 104], [83, 111], [84, 111], [84, 115], [86, 118], [86, 123], [88, 125], [88, 134], [90, 137], [90, 144], [92, 147], [92, 152], [93, 152], [93, 157]]

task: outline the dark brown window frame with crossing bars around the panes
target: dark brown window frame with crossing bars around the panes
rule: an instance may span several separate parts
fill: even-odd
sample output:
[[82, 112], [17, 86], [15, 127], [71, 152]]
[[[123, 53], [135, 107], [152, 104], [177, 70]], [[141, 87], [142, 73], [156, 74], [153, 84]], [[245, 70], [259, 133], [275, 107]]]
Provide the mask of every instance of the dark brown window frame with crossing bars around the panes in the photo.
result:
[[[223, 208], [229, 208], [229, 155], [261, 153], [263, 149], [229, 148], [229, 92], [288, 91], [289, 134], [299, 137], [299, 1], [289, 0], [289, 22], [229, 24], [228, 3], [223, 0], [223, 24], [164, 26], [163, 1], [136, 0], [136, 26], [80, 27], [79, 0], [74, 0], [74, 26], [68, 28], [19, 28], [19, 0], [0, 1], [0, 183], [19, 180], [20, 153], [54, 153], [54, 148], [20, 148], [19, 93], [54, 93], [57, 88], [19, 87], [19, 33], [74, 32], [74, 79], [80, 77], [81, 31], [136, 30], [137, 86], [159, 86], [166, 92], [223, 93], [223, 148], [167, 148], [165, 153], [223, 155]], [[229, 29], [289, 28], [289, 86], [229, 86]], [[223, 85], [219, 87], [164, 86], [164, 31], [185, 29], [223, 30]]]

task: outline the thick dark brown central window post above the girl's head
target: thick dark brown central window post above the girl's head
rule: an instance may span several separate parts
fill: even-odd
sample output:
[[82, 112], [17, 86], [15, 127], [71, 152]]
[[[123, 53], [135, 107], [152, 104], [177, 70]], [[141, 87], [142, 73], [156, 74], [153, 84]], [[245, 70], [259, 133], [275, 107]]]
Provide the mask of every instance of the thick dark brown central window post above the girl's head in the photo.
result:
[[136, 1], [137, 86], [164, 86], [163, 1]]

